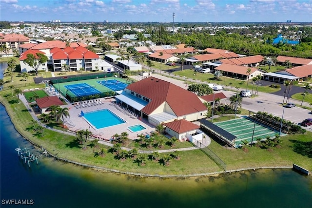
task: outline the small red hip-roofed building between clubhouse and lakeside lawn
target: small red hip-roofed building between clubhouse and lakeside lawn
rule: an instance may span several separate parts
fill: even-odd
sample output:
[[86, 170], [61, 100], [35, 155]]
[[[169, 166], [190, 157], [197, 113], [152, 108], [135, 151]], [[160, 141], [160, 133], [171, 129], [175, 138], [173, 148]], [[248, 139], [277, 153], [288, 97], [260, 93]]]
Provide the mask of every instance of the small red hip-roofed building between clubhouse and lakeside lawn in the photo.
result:
[[165, 123], [165, 132], [178, 140], [188, 139], [191, 142], [202, 141], [204, 133], [199, 130], [200, 126], [185, 119]]

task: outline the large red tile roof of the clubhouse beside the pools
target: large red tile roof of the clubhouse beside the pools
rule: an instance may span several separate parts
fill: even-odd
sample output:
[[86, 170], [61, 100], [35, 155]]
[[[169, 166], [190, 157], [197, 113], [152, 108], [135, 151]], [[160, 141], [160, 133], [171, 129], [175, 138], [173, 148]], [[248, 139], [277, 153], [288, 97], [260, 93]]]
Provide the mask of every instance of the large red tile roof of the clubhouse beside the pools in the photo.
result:
[[150, 102], [141, 110], [147, 115], [166, 102], [176, 116], [206, 111], [207, 108], [194, 93], [170, 82], [148, 77], [128, 85], [127, 89], [147, 97]]

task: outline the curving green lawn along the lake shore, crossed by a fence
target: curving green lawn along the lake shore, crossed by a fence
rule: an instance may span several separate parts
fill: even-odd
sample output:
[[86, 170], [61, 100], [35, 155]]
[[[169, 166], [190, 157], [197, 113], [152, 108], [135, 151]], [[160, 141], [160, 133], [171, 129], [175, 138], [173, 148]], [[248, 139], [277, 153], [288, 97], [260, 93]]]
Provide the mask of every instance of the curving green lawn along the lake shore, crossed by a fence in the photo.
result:
[[[26, 107], [22, 103], [19, 104], [17, 97], [12, 97], [9, 90], [0, 92], [0, 101], [5, 105], [16, 129], [24, 137], [61, 158], [116, 170], [162, 175], [204, 173], [220, 170], [215, 162], [200, 150], [180, 151], [180, 160], [172, 159], [169, 166], [164, 166], [161, 160], [147, 160], [145, 166], [140, 166], [136, 159], [128, 158], [124, 161], [115, 159], [116, 155], [111, 151], [106, 153], [104, 157], [98, 156], [97, 152], [101, 147], [108, 150], [110, 147], [101, 144], [93, 147], [89, 141], [87, 149], [83, 150], [82, 145], [75, 136], [48, 129], [44, 129], [43, 136], [41, 136], [41, 133], [35, 132], [30, 124], [32, 117]], [[283, 136], [281, 139], [281, 148], [272, 148], [271, 151], [252, 147], [245, 152], [241, 149], [225, 148], [215, 140], [212, 140], [209, 148], [227, 164], [227, 170], [259, 166], [292, 166], [292, 163], [312, 170], [312, 156], [305, 156], [302, 151], [309, 144], [308, 142], [312, 142], [312, 133]]]

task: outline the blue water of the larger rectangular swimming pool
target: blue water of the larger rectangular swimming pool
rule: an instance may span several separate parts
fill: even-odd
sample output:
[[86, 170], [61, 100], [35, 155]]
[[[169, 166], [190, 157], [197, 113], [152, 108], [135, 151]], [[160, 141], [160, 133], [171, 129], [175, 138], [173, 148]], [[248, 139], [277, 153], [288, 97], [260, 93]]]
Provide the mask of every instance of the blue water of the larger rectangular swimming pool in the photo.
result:
[[84, 118], [97, 129], [125, 123], [108, 109], [84, 113]]

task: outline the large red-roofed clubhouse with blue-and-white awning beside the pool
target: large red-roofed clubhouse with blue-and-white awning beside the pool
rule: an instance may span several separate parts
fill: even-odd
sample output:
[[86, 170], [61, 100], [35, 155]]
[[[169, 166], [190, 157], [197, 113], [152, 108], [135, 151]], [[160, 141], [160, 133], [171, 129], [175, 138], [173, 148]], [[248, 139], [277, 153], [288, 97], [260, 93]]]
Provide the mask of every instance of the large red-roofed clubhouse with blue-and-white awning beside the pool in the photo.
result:
[[128, 85], [116, 100], [155, 126], [179, 119], [195, 121], [207, 112], [194, 93], [152, 76]]

